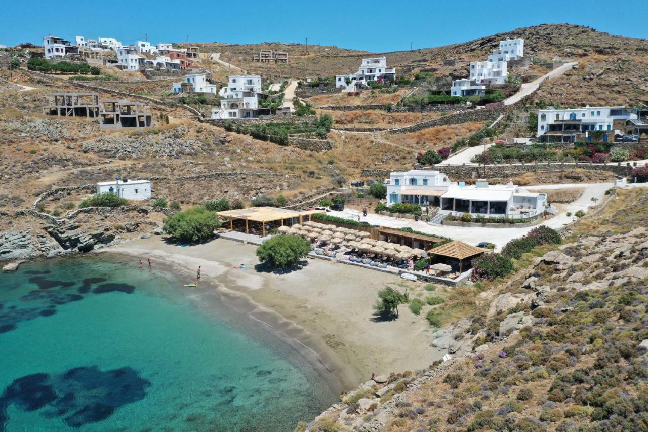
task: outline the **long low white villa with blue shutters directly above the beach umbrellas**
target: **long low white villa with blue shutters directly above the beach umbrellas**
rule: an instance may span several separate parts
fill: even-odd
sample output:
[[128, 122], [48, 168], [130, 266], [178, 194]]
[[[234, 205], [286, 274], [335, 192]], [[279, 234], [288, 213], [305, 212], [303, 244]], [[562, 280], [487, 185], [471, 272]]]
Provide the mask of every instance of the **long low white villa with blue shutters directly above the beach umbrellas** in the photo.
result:
[[547, 195], [531, 193], [511, 182], [489, 185], [486, 180], [478, 180], [477, 184], [466, 186], [463, 182], [450, 182], [439, 171], [410, 170], [389, 174], [387, 199], [388, 206], [410, 202], [439, 207], [441, 211], [456, 215], [470, 213], [524, 219], [545, 210]]

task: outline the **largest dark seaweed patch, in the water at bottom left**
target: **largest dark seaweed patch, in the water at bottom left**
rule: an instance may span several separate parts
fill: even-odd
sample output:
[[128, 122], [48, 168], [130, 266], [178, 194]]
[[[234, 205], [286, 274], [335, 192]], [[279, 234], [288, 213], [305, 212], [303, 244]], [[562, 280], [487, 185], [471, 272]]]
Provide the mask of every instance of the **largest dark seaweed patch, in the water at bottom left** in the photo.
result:
[[102, 372], [97, 366], [84, 366], [59, 376], [24, 376], [0, 396], [0, 431], [6, 428], [7, 408], [12, 404], [23, 411], [43, 409], [41, 414], [47, 418], [62, 417], [67, 426], [81, 427], [142, 400], [150, 385], [129, 367]]

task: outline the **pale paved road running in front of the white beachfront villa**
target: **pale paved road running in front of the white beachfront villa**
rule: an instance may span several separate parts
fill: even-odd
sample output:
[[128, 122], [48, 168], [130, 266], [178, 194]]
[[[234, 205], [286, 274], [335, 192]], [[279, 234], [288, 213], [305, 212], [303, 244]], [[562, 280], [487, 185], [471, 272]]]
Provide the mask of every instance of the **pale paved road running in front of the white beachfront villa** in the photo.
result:
[[[642, 185], [643, 187], [648, 187], [648, 184]], [[598, 202], [601, 202], [601, 200], [603, 200], [603, 197], [605, 196], [605, 191], [612, 187], [612, 183], [533, 186], [533, 188], [535, 189], [572, 189], [574, 187], [583, 187], [583, 195], [569, 204], [557, 204], [556, 207], [558, 208], [559, 213], [551, 219], [541, 221], [540, 224], [544, 224], [556, 229], [562, 228], [562, 226], [565, 226], [566, 224], [572, 222], [574, 219], [573, 216], [567, 217], [567, 212], [570, 212], [573, 215], [573, 213], [578, 210], [585, 211], [588, 208], [593, 207], [594, 202], [591, 200], [592, 197], [598, 198]], [[527, 187], [527, 189], [532, 189], [532, 187]], [[354, 219], [356, 221], [358, 220], [358, 216], [360, 216], [360, 221], [369, 222], [370, 224], [388, 226], [389, 228], [409, 227], [413, 230], [426, 232], [428, 234], [443, 235], [452, 239], [461, 240], [465, 243], [469, 243], [470, 245], [477, 245], [482, 241], [487, 241], [496, 245], [496, 251], [501, 250], [502, 246], [509, 241], [527, 234], [527, 232], [529, 232], [529, 230], [533, 228], [482, 228], [443, 225], [435, 226], [429, 225], [426, 222], [415, 222], [411, 221], [411, 219], [400, 219], [395, 217], [376, 215], [373, 213], [367, 215], [367, 217], [362, 217], [362, 213], [360, 213], [360, 211], [351, 209], [343, 211], [330, 211], [330, 213], [328, 214], [332, 216], [345, 217], [347, 219]]]

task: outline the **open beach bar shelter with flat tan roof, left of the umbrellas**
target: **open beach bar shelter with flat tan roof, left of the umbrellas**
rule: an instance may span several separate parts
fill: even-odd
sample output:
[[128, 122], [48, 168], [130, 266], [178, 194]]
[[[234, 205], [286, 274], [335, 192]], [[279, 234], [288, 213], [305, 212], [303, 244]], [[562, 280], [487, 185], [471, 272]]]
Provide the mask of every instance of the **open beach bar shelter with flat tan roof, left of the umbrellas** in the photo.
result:
[[288, 210], [277, 207], [250, 207], [237, 210], [218, 211], [216, 215], [229, 219], [231, 231], [242, 231], [246, 234], [266, 236], [266, 231], [282, 225], [292, 226], [310, 221], [312, 215], [325, 213], [323, 210]]

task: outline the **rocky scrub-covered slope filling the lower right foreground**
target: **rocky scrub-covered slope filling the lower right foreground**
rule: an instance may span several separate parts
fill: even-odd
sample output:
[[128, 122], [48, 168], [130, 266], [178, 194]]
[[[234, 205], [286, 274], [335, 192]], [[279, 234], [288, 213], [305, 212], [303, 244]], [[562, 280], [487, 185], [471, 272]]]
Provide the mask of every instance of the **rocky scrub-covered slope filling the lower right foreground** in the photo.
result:
[[434, 335], [456, 359], [368, 381], [308, 430], [645, 430], [647, 210], [645, 189], [620, 191], [527, 269], [474, 287], [475, 313]]

